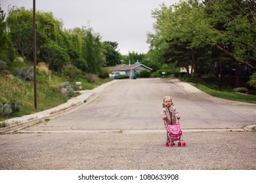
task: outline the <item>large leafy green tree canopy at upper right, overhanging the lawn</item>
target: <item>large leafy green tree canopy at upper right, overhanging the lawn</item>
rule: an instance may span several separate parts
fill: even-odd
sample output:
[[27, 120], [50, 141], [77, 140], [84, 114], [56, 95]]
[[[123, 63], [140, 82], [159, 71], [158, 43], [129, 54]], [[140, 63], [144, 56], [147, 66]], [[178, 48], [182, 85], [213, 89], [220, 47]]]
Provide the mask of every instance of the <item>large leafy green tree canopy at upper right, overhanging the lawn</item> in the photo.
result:
[[[208, 59], [198, 59], [202, 48], [205, 53], [218, 57], [217, 63], [236, 67], [236, 78], [239, 79], [242, 65], [256, 69], [256, 24], [255, 3], [250, 0], [197, 0], [180, 1], [175, 5], [154, 10], [156, 18], [154, 35], [148, 35], [153, 45], [186, 43], [187, 54], [192, 54], [194, 69], [205, 67]], [[153, 46], [151, 46], [153, 47]], [[165, 56], [173, 59], [175, 47], [167, 50]], [[176, 52], [177, 54], [181, 54]], [[185, 52], [183, 52], [185, 53]], [[196, 55], [194, 55], [197, 53]], [[209, 54], [199, 55], [209, 58]], [[168, 59], [168, 58], [167, 58]], [[179, 58], [181, 59], [181, 58]], [[214, 61], [214, 58], [211, 58]], [[196, 73], [196, 70], [195, 70]], [[221, 73], [221, 71], [220, 71]], [[238, 85], [238, 82], [236, 82]]]

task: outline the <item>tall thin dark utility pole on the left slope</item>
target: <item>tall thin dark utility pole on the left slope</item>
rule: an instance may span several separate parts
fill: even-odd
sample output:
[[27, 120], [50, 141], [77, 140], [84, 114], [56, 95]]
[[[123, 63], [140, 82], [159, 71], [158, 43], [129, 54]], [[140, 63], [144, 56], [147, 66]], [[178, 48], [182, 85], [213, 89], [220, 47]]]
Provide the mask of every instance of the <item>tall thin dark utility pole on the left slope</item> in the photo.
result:
[[37, 109], [37, 54], [36, 54], [35, 0], [33, 0], [33, 94], [34, 106]]

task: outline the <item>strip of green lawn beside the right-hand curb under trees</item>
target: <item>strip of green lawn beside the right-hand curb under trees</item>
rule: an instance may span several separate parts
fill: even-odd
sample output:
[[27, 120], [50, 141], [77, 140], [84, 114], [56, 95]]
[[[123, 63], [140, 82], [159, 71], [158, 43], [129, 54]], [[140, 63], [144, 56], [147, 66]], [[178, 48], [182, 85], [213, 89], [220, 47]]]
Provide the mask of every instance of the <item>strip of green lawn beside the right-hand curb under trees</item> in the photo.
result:
[[256, 104], [256, 96], [255, 95], [244, 95], [242, 93], [234, 93], [234, 92], [221, 92], [217, 90], [213, 90], [211, 88], [208, 88], [207, 86], [204, 86], [202, 84], [194, 84], [190, 83], [192, 86], [195, 86], [199, 90], [202, 90], [205, 93], [208, 93], [209, 95], [213, 97], [219, 97], [221, 99], [228, 99], [232, 101], [240, 101], [245, 103], [254, 103]]

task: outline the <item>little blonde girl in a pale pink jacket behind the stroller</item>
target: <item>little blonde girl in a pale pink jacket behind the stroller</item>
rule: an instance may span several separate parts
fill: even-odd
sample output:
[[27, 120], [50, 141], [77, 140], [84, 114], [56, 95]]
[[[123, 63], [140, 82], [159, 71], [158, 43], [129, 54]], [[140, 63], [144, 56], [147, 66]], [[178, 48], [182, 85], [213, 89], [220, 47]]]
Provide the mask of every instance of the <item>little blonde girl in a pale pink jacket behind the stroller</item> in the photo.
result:
[[177, 108], [174, 107], [173, 101], [171, 97], [165, 96], [163, 98], [163, 110], [161, 111], [161, 118], [167, 122], [167, 124], [177, 124], [176, 118], [179, 120], [181, 117], [179, 116], [179, 112]]

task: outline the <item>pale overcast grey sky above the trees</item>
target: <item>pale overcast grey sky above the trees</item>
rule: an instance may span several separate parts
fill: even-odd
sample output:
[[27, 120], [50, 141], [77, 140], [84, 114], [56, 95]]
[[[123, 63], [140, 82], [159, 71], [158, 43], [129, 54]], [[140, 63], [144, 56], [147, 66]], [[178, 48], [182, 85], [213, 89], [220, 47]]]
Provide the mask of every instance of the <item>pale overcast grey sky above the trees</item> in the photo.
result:
[[[36, 0], [35, 8], [53, 12], [66, 29], [91, 27], [100, 34], [101, 41], [117, 42], [117, 50], [125, 55], [148, 52], [147, 33], [154, 33], [156, 21], [152, 10], [162, 3], [169, 6], [179, 0]], [[33, 0], [0, 0], [0, 4], [6, 14], [9, 5], [33, 8]]]

